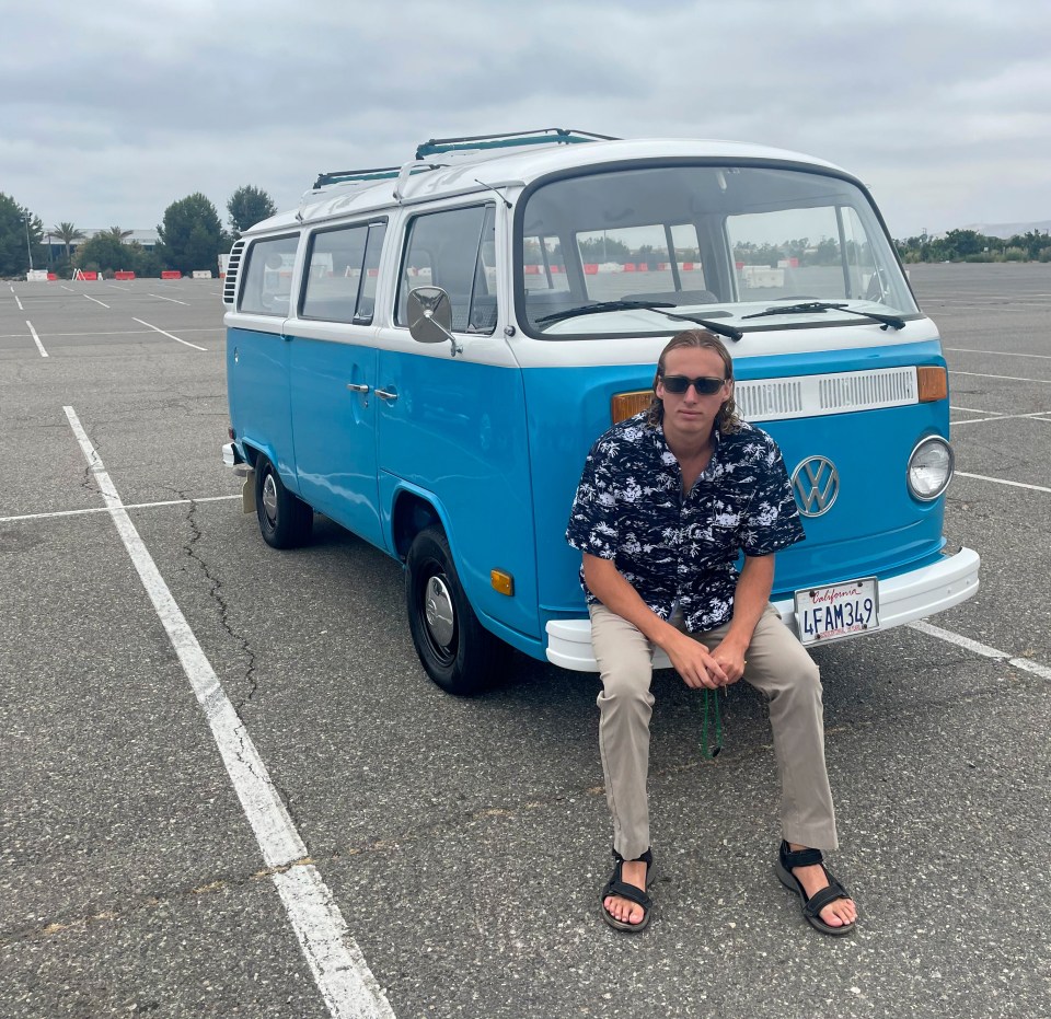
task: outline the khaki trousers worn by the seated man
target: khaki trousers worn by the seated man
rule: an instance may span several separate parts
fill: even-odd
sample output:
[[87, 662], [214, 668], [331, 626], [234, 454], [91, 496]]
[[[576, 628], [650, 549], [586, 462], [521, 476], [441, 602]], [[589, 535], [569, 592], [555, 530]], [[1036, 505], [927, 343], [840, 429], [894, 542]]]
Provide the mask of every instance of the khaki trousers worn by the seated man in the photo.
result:
[[[683, 628], [681, 616], [672, 623]], [[690, 636], [712, 649], [728, 628], [729, 623]], [[654, 647], [635, 626], [604, 605], [591, 606], [591, 644], [602, 675], [599, 749], [613, 815], [613, 848], [624, 859], [636, 859], [649, 848], [646, 779]], [[770, 703], [781, 774], [782, 834], [788, 842], [813, 849], [834, 849], [835, 811], [824, 766], [818, 667], [773, 605], [767, 605], [760, 618], [746, 659], [743, 680]]]

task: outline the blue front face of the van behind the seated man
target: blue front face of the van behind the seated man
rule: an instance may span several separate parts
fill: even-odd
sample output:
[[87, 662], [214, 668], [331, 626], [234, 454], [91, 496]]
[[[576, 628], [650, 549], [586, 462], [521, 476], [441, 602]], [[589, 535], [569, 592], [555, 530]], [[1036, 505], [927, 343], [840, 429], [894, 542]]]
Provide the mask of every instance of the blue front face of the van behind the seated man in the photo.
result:
[[[747, 339], [744, 340], [747, 343]], [[737, 350], [735, 350], [737, 354]], [[738, 379], [776, 379], [827, 371], [861, 371], [909, 364], [945, 364], [937, 340], [859, 350], [798, 354], [792, 358], [737, 357]], [[612, 422], [615, 393], [646, 390], [651, 364], [603, 368], [536, 368], [523, 372], [529, 407], [562, 407], [571, 420], [531, 415], [536, 533], [546, 536], [536, 549], [541, 616], [578, 617], [585, 613], [578, 568], [580, 555], [565, 541], [574, 493], [588, 450]], [[762, 422], [782, 449], [789, 473], [812, 455], [828, 456], [841, 475], [840, 495], [820, 518], [802, 518], [807, 541], [777, 556], [775, 597], [810, 584], [862, 576], [890, 577], [935, 561], [944, 547], [944, 498], [921, 502], [909, 494], [908, 456], [926, 436], [948, 437], [948, 400], [885, 410]], [[901, 456], [876, 472], [881, 449]], [[869, 454], [873, 454], [871, 456]]]

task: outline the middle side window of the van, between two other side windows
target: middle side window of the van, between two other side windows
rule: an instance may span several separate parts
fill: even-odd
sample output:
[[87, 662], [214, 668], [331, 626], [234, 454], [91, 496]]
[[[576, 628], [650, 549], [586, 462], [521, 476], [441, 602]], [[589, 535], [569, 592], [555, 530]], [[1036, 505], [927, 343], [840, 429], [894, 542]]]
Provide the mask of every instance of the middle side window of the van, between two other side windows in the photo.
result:
[[385, 230], [384, 223], [360, 223], [319, 231], [311, 238], [302, 317], [359, 324], [372, 321]]

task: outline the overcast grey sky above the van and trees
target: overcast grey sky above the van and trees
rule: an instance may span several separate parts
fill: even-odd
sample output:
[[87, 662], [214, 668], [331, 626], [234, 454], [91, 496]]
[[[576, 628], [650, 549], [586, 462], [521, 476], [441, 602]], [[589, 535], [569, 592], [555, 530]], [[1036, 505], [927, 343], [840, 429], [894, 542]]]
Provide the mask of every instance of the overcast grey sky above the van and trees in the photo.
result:
[[45, 228], [540, 127], [818, 155], [898, 238], [1051, 219], [1038, 0], [0, 0], [0, 192]]

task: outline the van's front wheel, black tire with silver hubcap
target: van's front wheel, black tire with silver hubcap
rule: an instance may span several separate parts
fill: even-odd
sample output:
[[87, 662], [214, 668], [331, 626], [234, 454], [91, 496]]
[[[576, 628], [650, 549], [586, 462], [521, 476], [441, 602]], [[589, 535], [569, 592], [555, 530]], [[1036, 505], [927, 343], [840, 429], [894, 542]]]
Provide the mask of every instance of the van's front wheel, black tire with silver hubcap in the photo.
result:
[[416, 653], [442, 690], [464, 696], [499, 680], [507, 645], [478, 622], [441, 528], [420, 531], [408, 549], [405, 601]]

